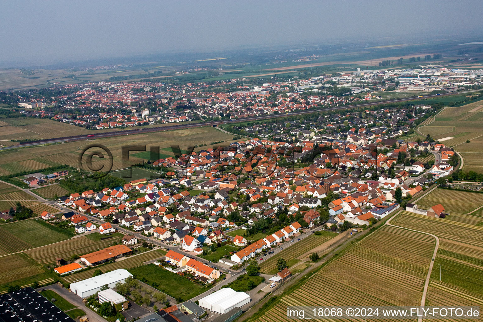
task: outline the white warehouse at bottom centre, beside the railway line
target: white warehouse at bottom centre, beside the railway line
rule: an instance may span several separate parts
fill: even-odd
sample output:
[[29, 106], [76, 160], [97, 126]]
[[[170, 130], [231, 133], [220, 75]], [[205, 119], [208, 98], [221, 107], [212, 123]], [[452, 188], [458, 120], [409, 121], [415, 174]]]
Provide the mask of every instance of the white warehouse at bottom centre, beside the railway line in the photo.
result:
[[249, 294], [235, 292], [233, 289], [226, 287], [200, 299], [199, 306], [224, 314], [233, 308], [241, 308], [250, 301]]

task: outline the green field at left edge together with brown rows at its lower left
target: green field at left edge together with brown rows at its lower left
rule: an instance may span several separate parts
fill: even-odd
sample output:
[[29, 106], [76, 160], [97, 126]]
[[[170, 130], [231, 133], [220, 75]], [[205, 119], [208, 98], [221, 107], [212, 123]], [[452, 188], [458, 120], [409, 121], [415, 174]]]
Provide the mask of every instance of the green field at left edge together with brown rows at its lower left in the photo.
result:
[[43, 222], [42, 219], [26, 219], [0, 226], [0, 234], [9, 243], [0, 244], [0, 253], [23, 251], [40, 247], [73, 236], [68, 231]]

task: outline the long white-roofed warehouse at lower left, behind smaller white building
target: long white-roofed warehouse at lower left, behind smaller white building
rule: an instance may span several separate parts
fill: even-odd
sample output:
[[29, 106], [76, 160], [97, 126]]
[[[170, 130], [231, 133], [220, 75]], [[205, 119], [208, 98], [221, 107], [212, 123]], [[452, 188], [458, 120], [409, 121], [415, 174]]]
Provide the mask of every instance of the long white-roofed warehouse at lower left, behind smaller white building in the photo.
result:
[[116, 285], [117, 282], [124, 282], [128, 277], [132, 276], [126, 269], [116, 269], [98, 276], [91, 277], [87, 280], [71, 283], [70, 288], [74, 294], [84, 298], [100, 291], [100, 288], [107, 284], [109, 288]]

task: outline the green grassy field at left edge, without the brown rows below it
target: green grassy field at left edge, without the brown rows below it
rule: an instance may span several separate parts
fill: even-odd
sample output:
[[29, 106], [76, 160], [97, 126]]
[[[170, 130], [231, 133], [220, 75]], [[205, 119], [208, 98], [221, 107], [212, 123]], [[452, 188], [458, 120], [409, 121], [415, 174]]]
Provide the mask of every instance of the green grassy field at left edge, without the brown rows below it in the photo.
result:
[[55, 243], [74, 236], [71, 232], [44, 222], [42, 219], [27, 219], [1, 225], [7, 231], [28, 243], [32, 248]]

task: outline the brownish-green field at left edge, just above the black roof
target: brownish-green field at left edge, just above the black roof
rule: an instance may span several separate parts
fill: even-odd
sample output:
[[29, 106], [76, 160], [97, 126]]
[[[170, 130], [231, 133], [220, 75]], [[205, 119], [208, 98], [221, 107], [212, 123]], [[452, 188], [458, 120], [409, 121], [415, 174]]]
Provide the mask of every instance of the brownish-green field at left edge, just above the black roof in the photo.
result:
[[0, 292], [10, 285], [24, 286], [50, 277], [22, 253], [0, 256], [0, 266]]

